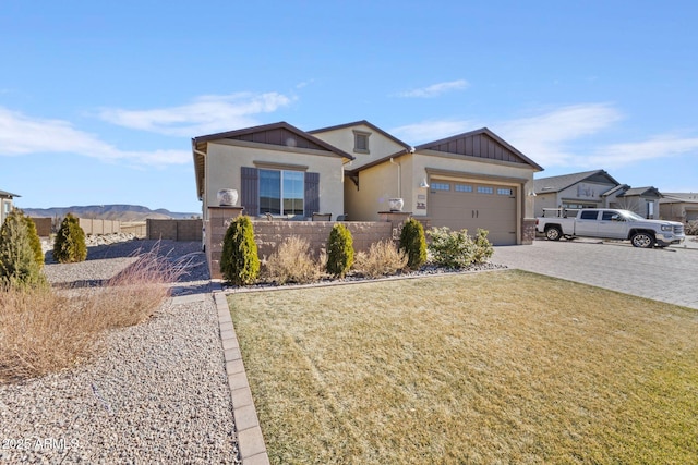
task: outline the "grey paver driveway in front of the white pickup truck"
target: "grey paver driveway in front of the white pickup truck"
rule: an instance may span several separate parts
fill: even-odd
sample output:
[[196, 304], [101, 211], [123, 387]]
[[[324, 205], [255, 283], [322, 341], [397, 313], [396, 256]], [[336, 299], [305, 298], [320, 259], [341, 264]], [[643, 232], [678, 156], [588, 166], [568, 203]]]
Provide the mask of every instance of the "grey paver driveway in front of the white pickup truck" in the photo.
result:
[[698, 309], [697, 248], [539, 240], [495, 247], [492, 262]]

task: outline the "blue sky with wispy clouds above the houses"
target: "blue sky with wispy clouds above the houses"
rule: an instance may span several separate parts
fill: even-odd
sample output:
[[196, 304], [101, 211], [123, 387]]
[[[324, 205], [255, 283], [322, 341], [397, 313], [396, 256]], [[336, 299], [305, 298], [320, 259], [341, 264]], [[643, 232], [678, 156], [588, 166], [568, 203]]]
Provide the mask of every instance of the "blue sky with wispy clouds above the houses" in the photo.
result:
[[696, 24], [694, 1], [3, 0], [0, 189], [195, 212], [192, 137], [369, 120], [698, 192]]

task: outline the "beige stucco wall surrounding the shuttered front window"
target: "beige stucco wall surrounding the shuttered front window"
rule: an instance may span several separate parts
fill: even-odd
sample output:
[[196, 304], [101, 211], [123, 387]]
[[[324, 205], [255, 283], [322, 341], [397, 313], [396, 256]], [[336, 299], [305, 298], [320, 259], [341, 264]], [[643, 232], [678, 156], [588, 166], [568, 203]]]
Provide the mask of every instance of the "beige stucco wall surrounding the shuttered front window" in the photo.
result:
[[[321, 150], [228, 140], [208, 143], [204, 212], [207, 212], [208, 206], [217, 205], [217, 193], [221, 188], [236, 188], [241, 195], [241, 167], [268, 168], [279, 164], [320, 173], [320, 211], [333, 213], [333, 218], [344, 212], [341, 157]], [[241, 200], [238, 200], [238, 205], [241, 205]], [[245, 213], [256, 215], [249, 211]]]

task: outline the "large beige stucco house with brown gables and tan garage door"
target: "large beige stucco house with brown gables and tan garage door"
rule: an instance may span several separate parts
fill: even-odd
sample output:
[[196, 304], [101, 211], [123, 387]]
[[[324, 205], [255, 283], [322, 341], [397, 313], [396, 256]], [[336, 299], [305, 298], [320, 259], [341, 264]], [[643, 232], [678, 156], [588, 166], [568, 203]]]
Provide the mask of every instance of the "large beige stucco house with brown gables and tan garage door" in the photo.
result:
[[234, 188], [245, 215], [378, 221], [388, 200], [431, 227], [489, 230], [495, 245], [534, 237], [543, 169], [488, 129], [412, 147], [368, 121], [302, 131], [286, 122], [194, 137], [196, 194], [208, 209]]

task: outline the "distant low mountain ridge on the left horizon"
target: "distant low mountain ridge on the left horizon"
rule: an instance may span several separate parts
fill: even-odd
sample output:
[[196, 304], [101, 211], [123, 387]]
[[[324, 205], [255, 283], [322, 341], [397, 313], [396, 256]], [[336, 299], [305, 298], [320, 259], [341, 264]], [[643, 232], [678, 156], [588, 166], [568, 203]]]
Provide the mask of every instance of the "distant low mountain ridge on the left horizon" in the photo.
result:
[[39, 218], [64, 217], [73, 213], [79, 218], [94, 218], [112, 221], [144, 221], [146, 219], [166, 220], [201, 218], [201, 213], [178, 213], [158, 208], [151, 210], [141, 205], [88, 205], [84, 207], [56, 207], [56, 208], [23, 208], [24, 215]]

